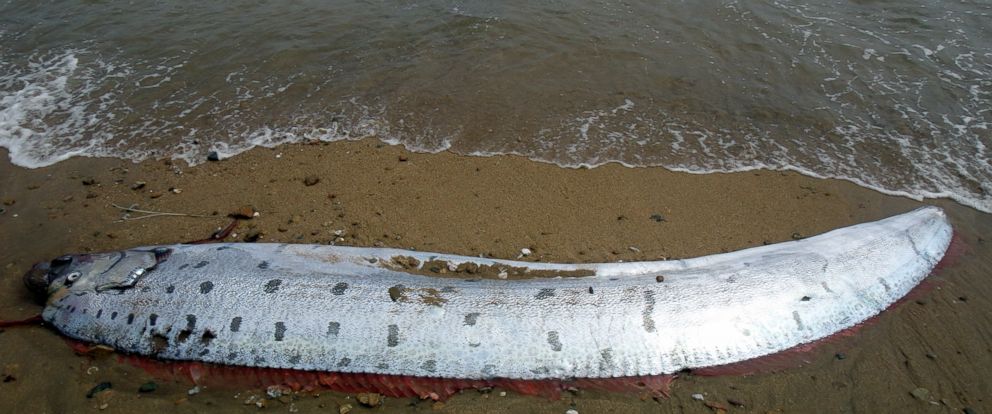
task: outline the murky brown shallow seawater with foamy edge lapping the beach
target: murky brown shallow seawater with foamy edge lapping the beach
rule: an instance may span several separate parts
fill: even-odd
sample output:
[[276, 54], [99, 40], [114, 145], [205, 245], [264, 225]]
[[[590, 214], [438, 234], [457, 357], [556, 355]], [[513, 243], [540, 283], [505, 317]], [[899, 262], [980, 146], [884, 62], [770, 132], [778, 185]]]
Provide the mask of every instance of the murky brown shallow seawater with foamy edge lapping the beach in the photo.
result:
[[0, 146], [202, 162], [420, 151], [791, 169], [992, 211], [992, 3], [0, 5]]

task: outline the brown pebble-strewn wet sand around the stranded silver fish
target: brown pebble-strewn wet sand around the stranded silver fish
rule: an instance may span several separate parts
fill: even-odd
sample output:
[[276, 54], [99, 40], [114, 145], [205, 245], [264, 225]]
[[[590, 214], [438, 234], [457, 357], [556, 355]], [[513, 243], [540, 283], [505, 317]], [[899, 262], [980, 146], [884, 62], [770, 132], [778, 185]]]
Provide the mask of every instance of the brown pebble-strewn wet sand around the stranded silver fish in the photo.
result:
[[[7, 154], [0, 151], [0, 158]], [[306, 182], [310, 177], [310, 182]], [[313, 183], [313, 178], [319, 181]], [[141, 188], [136, 185], [144, 182]], [[312, 184], [312, 185], [307, 185]], [[178, 192], [170, 191], [178, 189]], [[921, 203], [793, 173], [691, 175], [660, 168], [562, 169], [519, 157], [417, 154], [376, 140], [254, 149], [197, 167], [74, 158], [25, 170], [0, 164], [0, 318], [37, 314], [21, 284], [31, 264], [70, 252], [201, 239], [253, 206], [236, 239], [388, 246], [495, 258], [610, 262], [693, 257], [805, 237]], [[381, 412], [974, 412], [992, 410], [992, 217], [944, 200], [968, 252], [936, 287], [885, 312], [854, 338], [802, 356], [799, 367], [676, 380], [672, 398], [594, 391], [560, 400], [465, 391], [444, 404], [387, 399]], [[206, 215], [121, 221], [137, 208]], [[136, 216], [138, 214], [132, 214]], [[661, 216], [662, 221], [657, 217]], [[655, 218], [652, 218], [654, 216]], [[335, 235], [340, 232], [341, 236]], [[340, 239], [339, 239], [340, 237]], [[838, 353], [843, 354], [842, 358]], [[258, 390], [157, 381], [113, 356], [79, 356], [54, 331], [0, 333], [2, 412], [252, 412]], [[100, 382], [113, 390], [86, 398]], [[929, 397], [914, 397], [924, 388]], [[921, 394], [917, 391], [917, 394]], [[257, 397], [256, 397], [257, 398]], [[728, 399], [743, 402], [734, 406]], [[265, 410], [352, 412], [354, 396], [321, 392]], [[930, 400], [930, 401], [923, 401]]]

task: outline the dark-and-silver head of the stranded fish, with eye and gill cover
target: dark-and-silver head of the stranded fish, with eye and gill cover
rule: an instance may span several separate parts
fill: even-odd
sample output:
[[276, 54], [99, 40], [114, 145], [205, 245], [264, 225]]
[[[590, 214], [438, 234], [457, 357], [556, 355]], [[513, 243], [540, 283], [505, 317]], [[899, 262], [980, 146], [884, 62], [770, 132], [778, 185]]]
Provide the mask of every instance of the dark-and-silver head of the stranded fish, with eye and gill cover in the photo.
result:
[[171, 249], [156, 247], [107, 253], [67, 254], [34, 265], [24, 275], [28, 290], [39, 297], [71, 288], [101, 292], [127, 289], [168, 258]]

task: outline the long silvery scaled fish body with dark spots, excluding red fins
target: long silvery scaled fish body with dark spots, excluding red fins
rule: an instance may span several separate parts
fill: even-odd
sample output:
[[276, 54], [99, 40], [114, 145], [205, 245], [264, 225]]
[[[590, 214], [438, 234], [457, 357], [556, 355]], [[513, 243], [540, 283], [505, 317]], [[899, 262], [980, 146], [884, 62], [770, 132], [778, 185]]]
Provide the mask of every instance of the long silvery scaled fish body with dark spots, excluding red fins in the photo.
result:
[[[951, 237], [944, 213], [925, 207], [804, 240], [657, 262], [153, 246], [56, 259], [43, 317], [71, 338], [163, 360], [464, 379], [670, 374], [851, 328], [920, 283]], [[437, 278], [395, 265], [411, 257], [420, 266], [592, 276]]]

